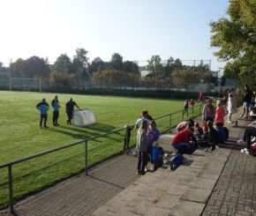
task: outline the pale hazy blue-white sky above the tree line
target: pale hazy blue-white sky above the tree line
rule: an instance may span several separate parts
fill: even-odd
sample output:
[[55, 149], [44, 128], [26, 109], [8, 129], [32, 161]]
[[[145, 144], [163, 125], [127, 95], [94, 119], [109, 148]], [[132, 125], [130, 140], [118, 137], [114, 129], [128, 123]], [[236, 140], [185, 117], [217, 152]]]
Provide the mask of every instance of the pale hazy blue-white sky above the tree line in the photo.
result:
[[89, 61], [109, 61], [113, 53], [139, 64], [172, 56], [207, 60], [218, 71], [225, 63], [210, 47], [209, 23], [226, 17], [228, 6], [229, 0], [1, 0], [0, 62], [40, 56], [54, 63], [85, 48]]

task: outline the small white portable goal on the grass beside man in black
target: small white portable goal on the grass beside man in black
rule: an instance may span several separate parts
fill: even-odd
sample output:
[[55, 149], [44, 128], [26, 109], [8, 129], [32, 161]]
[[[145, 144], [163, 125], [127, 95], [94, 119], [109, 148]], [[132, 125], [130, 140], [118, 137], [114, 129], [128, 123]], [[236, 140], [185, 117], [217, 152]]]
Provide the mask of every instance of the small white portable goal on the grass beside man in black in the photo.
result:
[[72, 124], [78, 127], [85, 127], [97, 123], [95, 115], [89, 109], [74, 110]]

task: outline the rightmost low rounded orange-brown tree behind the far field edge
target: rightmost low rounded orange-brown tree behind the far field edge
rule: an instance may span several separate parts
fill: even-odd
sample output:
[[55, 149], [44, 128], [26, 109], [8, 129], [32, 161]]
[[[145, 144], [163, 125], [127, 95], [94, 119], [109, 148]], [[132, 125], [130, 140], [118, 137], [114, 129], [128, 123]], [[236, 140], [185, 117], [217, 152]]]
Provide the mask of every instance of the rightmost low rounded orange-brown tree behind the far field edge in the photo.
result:
[[195, 83], [198, 83], [199, 73], [192, 69], [184, 68], [172, 73], [173, 82], [178, 87], [183, 87], [185, 91], [190, 89]]

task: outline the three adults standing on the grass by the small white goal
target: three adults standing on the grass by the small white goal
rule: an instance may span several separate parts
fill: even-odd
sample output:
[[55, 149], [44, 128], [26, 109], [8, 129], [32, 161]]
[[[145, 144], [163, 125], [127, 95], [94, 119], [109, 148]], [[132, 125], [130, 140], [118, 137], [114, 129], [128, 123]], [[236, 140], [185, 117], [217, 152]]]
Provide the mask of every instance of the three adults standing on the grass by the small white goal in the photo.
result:
[[[67, 123], [71, 124], [72, 123], [72, 116], [73, 116], [73, 110], [74, 107], [79, 108], [77, 103], [75, 101], [72, 101], [72, 98], [70, 98], [69, 101], [66, 102], [65, 104], [65, 111], [68, 116]], [[58, 117], [59, 117], [59, 108], [61, 107], [57, 98], [57, 95], [54, 97], [54, 99], [51, 101], [51, 107], [52, 107], [52, 122], [53, 126], [59, 126], [57, 123]], [[49, 111], [49, 104], [43, 98], [40, 103], [38, 103], [35, 108], [39, 109], [40, 111], [40, 128], [42, 128], [42, 123], [44, 128], [48, 128], [47, 126], [47, 120], [48, 120], [48, 111]]]

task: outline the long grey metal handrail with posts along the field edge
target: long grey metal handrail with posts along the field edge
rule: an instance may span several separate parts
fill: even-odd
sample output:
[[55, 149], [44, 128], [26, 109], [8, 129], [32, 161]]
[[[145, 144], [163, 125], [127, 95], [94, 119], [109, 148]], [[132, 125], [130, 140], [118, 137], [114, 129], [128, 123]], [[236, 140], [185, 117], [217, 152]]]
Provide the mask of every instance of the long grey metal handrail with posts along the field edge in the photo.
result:
[[[200, 107], [201, 108], [201, 104], [200, 105], [197, 105], [197, 106], [194, 106], [193, 108], [197, 108], [197, 107]], [[192, 108], [192, 117], [193, 117], [193, 108]], [[201, 111], [201, 109], [200, 109]], [[174, 112], [174, 113], [169, 113], [167, 115], [162, 115], [162, 116], [159, 116], [159, 117], [156, 117], [154, 118], [154, 120], [158, 120], [158, 119], [161, 119], [163, 117], [167, 117], [169, 116], [169, 129], [171, 128], [171, 119], [172, 119], [172, 115], [175, 115], [177, 113], [181, 113], [182, 112], [182, 121], [184, 120], [184, 110], [180, 110], [180, 111], [177, 111], [177, 112]], [[72, 144], [69, 144], [69, 145], [64, 145], [64, 146], [61, 146], [61, 147], [57, 147], [57, 148], [54, 148], [54, 149], [51, 149], [49, 151], [46, 151], [46, 152], [43, 152], [43, 153], [37, 153], [37, 154], [34, 154], [32, 156], [29, 156], [29, 157], [26, 157], [26, 158], [23, 158], [23, 159], [20, 159], [20, 160], [14, 160], [14, 161], [11, 161], [11, 162], [8, 162], [8, 163], [5, 163], [3, 165], [0, 165], [0, 169], [1, 168], [8, 168], [8, 182], [9, 182], [9, 203], [10, 203], [10, 211], [11, 213], [15, 213], [14, 212], [14, 208], [13, 208], [13, 205], [14, 205], [14, 202], [13, 202], [13, 190], [12, 190], [12, 171], [11, 171], [11, 168], [13, 165], [15, 164], [19, 164], [21, 162], [24, 162], [26, 160], [31, 160], [31, 159], [34, 159], [34, 158], [38, 158], [38, 157], [41, 157], [42, 155], [46, 155], [46, 154], [49, 154], [49, 153], [54, 153], [54, 152], [57, 152], [57, 151], [60, 151], [60, 150], [63, 150], [65, 148], [69, 148], [69, 147], [72, 147], [74, 145], [79, 145], [79, 144], [82, 144], [82, 143], [85, 143], [85, 173], [87, 175], [87, 168], [88, 168], [88, 160], [87, 160], [87, 153], [88, 153], [88, 141], [90, 140], [94, 140], [96, 138], [102, 138], [102, 137], [105, 137], [109, 134], [113, 134], [113, 133], [117, 133], [121, 130], [125, 130], [125, 138], [126, 138], [126, 143], [125, 143], [125, 151], [126, 153], [129, 152], [130, 148], [129, 148], [129, 142], [128, 142], [128, 130], [130, 130], [130, 127], [132, 127], [134, 125], [130, 124], [129, 126], [127, 126], [126, 128], [122, 128], [122, 129], [117, 129], [117, 130], [112, 130], [112, 131], [109, 131], [107, 133], [103, 133], [101, 135], [98, 135], [98, 136], [95, 136], [93, 138], [87, 138], [87, 139], [84, 139], [82, 141], [79, 141], [79, 142], [76, 142], [76, 143], [72, 143]]]

